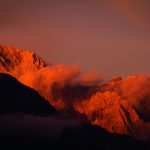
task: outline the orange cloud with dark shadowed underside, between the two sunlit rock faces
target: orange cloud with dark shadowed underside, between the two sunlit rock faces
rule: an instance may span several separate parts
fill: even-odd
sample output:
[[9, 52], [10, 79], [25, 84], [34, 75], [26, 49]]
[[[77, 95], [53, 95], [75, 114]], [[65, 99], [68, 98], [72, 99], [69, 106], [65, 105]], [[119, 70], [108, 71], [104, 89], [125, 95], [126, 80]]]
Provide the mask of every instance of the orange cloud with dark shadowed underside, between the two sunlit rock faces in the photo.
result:
[[89, 97], [101, 82], [93, 71], [82, 75], [78, 65], [57, 64], [35, 69], [23, 63], [9, 73], [61, 111], [73, 109], [75, 101]]

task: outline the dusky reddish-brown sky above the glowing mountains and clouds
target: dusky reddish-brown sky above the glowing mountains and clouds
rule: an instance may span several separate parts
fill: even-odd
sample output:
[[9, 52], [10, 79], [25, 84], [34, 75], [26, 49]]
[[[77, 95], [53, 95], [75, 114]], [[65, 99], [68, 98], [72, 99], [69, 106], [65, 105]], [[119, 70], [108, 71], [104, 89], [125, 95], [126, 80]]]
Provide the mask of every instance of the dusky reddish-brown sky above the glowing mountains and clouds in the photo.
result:
[[149, 0], [0, 0], [0, 44], [102, 77], [150, 74]]

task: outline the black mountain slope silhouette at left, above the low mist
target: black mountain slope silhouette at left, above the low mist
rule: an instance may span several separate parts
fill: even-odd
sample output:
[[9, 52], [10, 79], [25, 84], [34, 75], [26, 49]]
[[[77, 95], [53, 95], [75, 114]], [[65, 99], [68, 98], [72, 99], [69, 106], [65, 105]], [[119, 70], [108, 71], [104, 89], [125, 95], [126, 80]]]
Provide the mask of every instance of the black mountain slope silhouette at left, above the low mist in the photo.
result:
[[11, 75], [0, 73], [0, 114], [10, 113], [47, 116], [57, 111], [36, 91]]

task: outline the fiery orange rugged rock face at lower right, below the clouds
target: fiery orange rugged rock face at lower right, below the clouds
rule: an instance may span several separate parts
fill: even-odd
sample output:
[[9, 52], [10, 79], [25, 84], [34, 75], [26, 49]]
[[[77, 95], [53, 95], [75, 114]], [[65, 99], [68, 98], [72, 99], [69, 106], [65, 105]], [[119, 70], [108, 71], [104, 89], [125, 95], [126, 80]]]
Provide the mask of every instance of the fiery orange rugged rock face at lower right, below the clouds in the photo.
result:
[[114, 92], [97, 92], [90, 100], [77, 103], [75, 108], [85, 113], [93, 125], [111, 133], [135, 134], [134, 124], [139, 117], [127, 101]]

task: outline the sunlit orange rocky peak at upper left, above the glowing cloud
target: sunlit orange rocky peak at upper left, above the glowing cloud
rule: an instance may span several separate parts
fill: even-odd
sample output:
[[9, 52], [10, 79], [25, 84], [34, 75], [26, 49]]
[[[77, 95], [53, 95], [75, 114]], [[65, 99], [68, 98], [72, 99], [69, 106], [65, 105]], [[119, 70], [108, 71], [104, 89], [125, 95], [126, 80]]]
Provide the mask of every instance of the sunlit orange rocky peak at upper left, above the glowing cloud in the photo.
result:
[[9, 46], [0, 46], [0, 71], [9, 72], [18, 66], [40, 69], [47, 64], [36, 53]]

